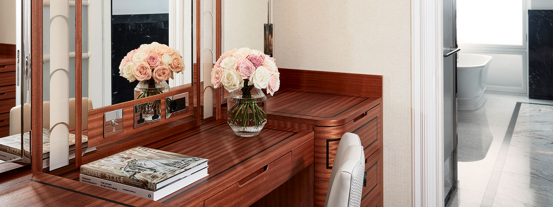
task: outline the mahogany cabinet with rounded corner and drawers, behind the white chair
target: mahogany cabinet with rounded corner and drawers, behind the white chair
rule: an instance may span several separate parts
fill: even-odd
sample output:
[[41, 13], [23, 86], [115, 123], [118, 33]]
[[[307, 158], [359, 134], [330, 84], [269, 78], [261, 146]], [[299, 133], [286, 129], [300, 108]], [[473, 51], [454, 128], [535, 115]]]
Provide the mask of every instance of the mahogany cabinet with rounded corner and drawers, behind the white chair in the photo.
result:
[[380, 97], [301, 91], [285, 91], [267, 99], [269, 125], [314, 130], [315, 206], [325, 204], [336, 149], [346, 132], [359, 135], [364, 148], [367, 186], [362, 206], [382, 202], [382, 105]]

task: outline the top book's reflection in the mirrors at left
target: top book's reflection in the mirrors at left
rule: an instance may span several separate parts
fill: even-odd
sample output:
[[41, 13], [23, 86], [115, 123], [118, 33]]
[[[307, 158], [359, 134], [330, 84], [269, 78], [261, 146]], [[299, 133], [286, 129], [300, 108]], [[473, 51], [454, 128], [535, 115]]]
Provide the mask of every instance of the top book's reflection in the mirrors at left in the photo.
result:
[[[74, 149], [75, 148], [75, 135], [69, 134], [67, 137], [68, 144]], [[23, 134], [23, 145], [25, 150], [25, 155], [29, 156], [29, 132]], [[88, 136], [82, 135], [82, 147], [86, 147], [88, 142]], [[50, 152], [50, 130], [42, 129], [42, 153], [43, 155]], [[11, 136], [6, 136], [0, 138], [0, 151], [11, 153], [13, 155], [21, 155], [21, 135], [15, 134]]]

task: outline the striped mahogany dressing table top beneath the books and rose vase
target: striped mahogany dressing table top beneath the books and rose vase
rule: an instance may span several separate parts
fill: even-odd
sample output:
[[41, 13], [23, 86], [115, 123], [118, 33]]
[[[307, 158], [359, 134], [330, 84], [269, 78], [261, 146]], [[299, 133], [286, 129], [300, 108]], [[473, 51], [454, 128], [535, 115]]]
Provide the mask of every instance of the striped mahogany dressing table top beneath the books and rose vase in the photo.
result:
[[[208, 177], [159, 200], [168, 206], [201, 206], [204, 200], [222, 192], [260, 168], [268, 166], [269, 163], [290, 151], [294, 154], [294, 149], [309, 142], [312, 138], [312, 131], [273, 126], [266, 127], [260, 135], [255, 137], [238, 137], [234, 135], [225, 120], [217, 120], [159, 140], [146, 145], [146, 147], [210, 160], [208, 161], [210, 166]], [[292, 162], [291, 157], [287, 162]], [[279, 171], [273, 173], [279, 173]], [[289, 170], [284, 169], [282, 173], [279, 176], [291, 177]], [[252, 178], [252, 181], [261, 178], [267, 179], [261, 176], [262, 174], [259, 174], [260, 177]], [[243, 187], [255, 183], [252, 181], [244, 183]], [[236, 196], [240, 195], [236, 194]]]

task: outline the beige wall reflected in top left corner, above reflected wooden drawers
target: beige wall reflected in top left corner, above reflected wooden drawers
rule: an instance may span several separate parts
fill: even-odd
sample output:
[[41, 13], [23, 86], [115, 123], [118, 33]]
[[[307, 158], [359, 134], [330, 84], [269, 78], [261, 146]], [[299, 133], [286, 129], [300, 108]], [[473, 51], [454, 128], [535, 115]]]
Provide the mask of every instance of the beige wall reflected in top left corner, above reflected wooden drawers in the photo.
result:
[[0, 43], [15, 44], [15, 1], [0, 1]]

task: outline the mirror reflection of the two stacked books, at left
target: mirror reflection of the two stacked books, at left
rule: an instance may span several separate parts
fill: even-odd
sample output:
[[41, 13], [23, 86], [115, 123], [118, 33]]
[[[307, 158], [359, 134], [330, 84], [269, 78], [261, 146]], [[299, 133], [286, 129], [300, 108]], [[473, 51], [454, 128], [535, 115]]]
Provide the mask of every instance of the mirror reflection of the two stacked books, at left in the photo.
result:
[[[30, 157], [29, 132], [23, 134], [24, 155]], [[42, 129], [42, 167], [50, 166], [50, 130]], [[69, 134], [69, 159], [75, 158], [75, 135]], [[88, 136], [82, 135], [82, 155], [96, 150], [96, 146], [88, 147]], [[0, 160], [9, 161], [21, 157], [21, 134], [0, 138]], [[24, 161], [22, 161], [24, 162]]]

